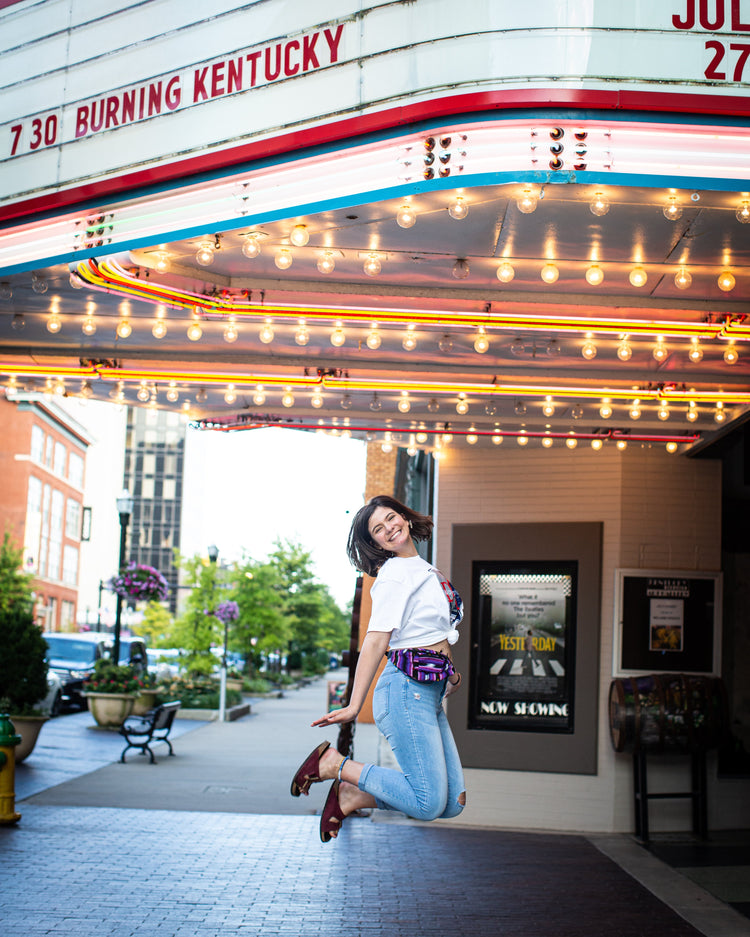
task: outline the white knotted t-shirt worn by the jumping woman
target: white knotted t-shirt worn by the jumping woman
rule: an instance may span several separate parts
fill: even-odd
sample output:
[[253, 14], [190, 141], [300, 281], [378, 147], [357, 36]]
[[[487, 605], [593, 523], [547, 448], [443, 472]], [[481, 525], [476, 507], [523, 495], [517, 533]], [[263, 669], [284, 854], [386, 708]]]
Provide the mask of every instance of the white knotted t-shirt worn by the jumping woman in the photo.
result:
[[[437, 573], [437, 575], [436, 575]], [[458, 641], [442, 576], [421, 556], [393, 556], [381, 566], [370, 590], [368, 631], [390, 631], [389, 647], [425, 647]], [[458, 622], [457, 622], [458, 623]]]

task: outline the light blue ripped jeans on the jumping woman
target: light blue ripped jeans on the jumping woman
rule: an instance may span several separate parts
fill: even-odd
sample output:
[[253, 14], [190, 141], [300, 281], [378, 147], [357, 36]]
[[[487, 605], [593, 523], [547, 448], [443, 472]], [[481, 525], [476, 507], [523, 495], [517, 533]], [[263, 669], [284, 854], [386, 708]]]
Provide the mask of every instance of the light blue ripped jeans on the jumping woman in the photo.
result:
[[385, 665], [372, 711], [401, 771], [365, 765], [359, 779], [359, 789], [371, 794], [382, 810], [436, 820], [464, 809], [458, 802], [465, 790], [461, 760], [442, 706], [446, 683], [420, 683], [390, 661]]

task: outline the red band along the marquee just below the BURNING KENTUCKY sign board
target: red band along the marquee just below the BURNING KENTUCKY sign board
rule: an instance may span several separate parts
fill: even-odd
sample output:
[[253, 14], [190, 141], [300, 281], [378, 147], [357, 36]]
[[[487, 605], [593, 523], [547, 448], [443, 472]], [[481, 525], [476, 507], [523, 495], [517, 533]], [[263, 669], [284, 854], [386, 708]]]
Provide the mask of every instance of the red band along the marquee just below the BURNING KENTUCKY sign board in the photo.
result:
[[244, 143], [230, 149], [192, 156], [178, 162], [141, 169], [112, 179], [85, 183], [38, 198], [26, 199], [0, 208], [0, 221], [10, 221], [39, 212], [61, 211], [81, 202], [101, 202], [105, 198], [111, 199], [115, 195], [123, 195], [143, 186], [164, 185], [177, 179], [200, 173], [217, 172], [252, 160], [267, 159], [308, 147], [330, 145], [341, 140], [425, 120], [526, 107], [576, 107], [750, 117], [750, 97], [740, 96], [557, 88], [472, 92], [348, 117], [305, 130], [280, 134], [268, 140]]

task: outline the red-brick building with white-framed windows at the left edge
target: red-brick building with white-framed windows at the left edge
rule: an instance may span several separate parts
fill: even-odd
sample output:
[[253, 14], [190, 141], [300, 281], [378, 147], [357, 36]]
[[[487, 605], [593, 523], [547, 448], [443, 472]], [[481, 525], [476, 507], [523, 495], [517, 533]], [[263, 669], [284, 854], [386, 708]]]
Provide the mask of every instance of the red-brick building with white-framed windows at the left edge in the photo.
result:
[[89, 433], [41, 394], [0, 398], [0, 516], [33, 575], [34, 614], [47, 631], [75, 630]]

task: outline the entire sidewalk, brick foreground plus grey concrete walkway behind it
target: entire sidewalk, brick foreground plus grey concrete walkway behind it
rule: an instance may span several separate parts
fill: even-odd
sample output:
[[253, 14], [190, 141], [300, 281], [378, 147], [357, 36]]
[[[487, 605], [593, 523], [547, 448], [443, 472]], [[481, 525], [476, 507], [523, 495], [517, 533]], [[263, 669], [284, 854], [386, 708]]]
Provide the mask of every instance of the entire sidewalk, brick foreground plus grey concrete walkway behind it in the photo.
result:
[[[236, 723], [176, 723], [175, 757], [119, 757], [87, 716], [45, 726], [0, 828], [4, 930], [24, 937], [744, 937], [750, 921], [628, 836], [418, 823], [374, 811], [323, 845], [327, 785], [289, 782], [322, 738], [326, 682]], [[76, 757], [75, 740], [86, 750]], [[359, 760], [388, 761], [373, 726]], [[36, 761], [51, 761], [39, 789]], [[77, 764], [77, 768], [75, 765]], [[19, 766], [19, 782], [25, 766]], [[61, 783], [55, 780], [55, 770]], [[78, 773], [76, 773], [78, 772]], [[43, 773], [43, 770], [42, 770]], [[59, 780], [59, 777], [57, 780]], [[470, 795], [470, 792], [469, 792]], [[476, 822], [474, 820], [473, 822]]]

